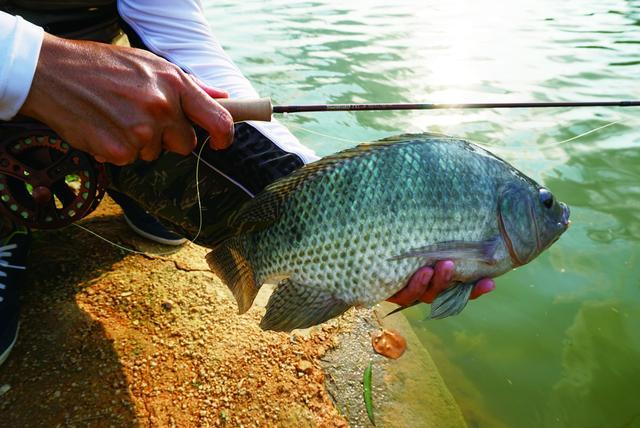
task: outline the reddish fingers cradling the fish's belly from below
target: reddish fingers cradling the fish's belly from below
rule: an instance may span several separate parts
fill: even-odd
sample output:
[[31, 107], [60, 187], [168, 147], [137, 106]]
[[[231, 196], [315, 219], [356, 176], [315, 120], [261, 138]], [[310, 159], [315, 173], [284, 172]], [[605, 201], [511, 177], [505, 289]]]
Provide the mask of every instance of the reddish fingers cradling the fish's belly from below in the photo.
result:
[[[436, 263], [435, 268], [423, 267], [418, 269], [409, 279], [407, 285], [387, 302], [401, 306], [409, 306], [416, 302], [431, 303], [438, 294], [447, 288], [453, 276], [454, 264], [451, 260]], [[471, 299], [476, 299], [496, 288], [491, 278], [478, 281], [471, 292]]]

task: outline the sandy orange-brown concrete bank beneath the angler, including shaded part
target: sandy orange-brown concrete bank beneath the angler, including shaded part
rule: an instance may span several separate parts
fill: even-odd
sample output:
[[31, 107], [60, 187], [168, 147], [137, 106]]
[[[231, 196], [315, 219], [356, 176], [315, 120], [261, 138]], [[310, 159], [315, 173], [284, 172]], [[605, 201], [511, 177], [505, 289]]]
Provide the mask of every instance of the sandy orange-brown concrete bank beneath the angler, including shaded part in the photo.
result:
[[[372, 354], [371, 311], [293, 335], [263, 332], [264, 309], [237, 315], [205, 248], [136, 237], [108, 199], [81, 224], [147, 254], [73, 226], [36, 233], [20, 336], [0, 367], [0, 425], [367, 426], [370, 358], [378, 426], [463, 425], [414, 339], [396, 362]], [[410, 404], [412, 391], [427, 405]]]

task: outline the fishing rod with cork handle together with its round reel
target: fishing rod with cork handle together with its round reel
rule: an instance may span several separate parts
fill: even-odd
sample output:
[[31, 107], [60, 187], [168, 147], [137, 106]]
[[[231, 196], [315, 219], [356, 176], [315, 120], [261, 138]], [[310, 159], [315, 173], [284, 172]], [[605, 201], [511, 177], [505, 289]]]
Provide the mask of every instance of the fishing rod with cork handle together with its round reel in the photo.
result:
[[[271, 104], [269, 98], [239, 100], [224, 98], [219, 99], [218, 102], [231, 113], [235, 122], [245, 120], [268, 122], [273, 114], [316, 111], [640, 106], [639, 100], [275, 106]], [[31, 121], [2, 122], [0, 131], [2, 131], [0, 132], [2, 135], [0, 138], [0, 157], [2, 158], [0, 159], [2, 160], [0, 162], [0, 214], [32, 228], [54, 229], [79, 220], [98, 206], [108, 184], [107, 175], [105, 167], [97, 164], [90, 155], [74, 149], [43, 124]], [[55, 162], [43, 163], [42, 159], [55, 159]], [[80, 177], [82, 192], [78, 192], [66, 182], [66, 177], [69, 176]], [[227, 179], [230, 178], [227, 177]], [[18, 184], [14, 185], [15, 183]], [[29, 186], [33, 189], [32, 192], [25, 190]], [[250, 192], [247, 191], [247, 193]]]

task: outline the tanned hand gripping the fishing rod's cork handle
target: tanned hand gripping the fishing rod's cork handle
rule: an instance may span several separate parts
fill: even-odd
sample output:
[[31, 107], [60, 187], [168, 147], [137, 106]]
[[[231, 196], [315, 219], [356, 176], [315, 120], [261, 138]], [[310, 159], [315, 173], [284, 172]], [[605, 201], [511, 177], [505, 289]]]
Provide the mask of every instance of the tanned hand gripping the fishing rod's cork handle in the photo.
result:
[[150, 52], [46, 34], [20, 114], [98, 161], [125, 165], [162, 149], [189, 154], [192, 123], [209, 132], [212, 148], [228, 147], [233, 119], [213, 99], [226, 97]]

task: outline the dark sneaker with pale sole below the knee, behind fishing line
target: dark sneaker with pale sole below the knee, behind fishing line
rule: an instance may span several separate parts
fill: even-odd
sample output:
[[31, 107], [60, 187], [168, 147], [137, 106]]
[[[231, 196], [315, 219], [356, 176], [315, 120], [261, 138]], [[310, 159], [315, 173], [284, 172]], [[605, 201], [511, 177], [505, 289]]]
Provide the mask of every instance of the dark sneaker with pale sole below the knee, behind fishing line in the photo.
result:
[[160, 220], [130, 197], [115, 190], [109, 190], [109, 196], [120, 205], [124, 212], [124, 220], [138, 235], [164, 245], [182, 245], [187, 242], [182, 236], [167, 229]]

